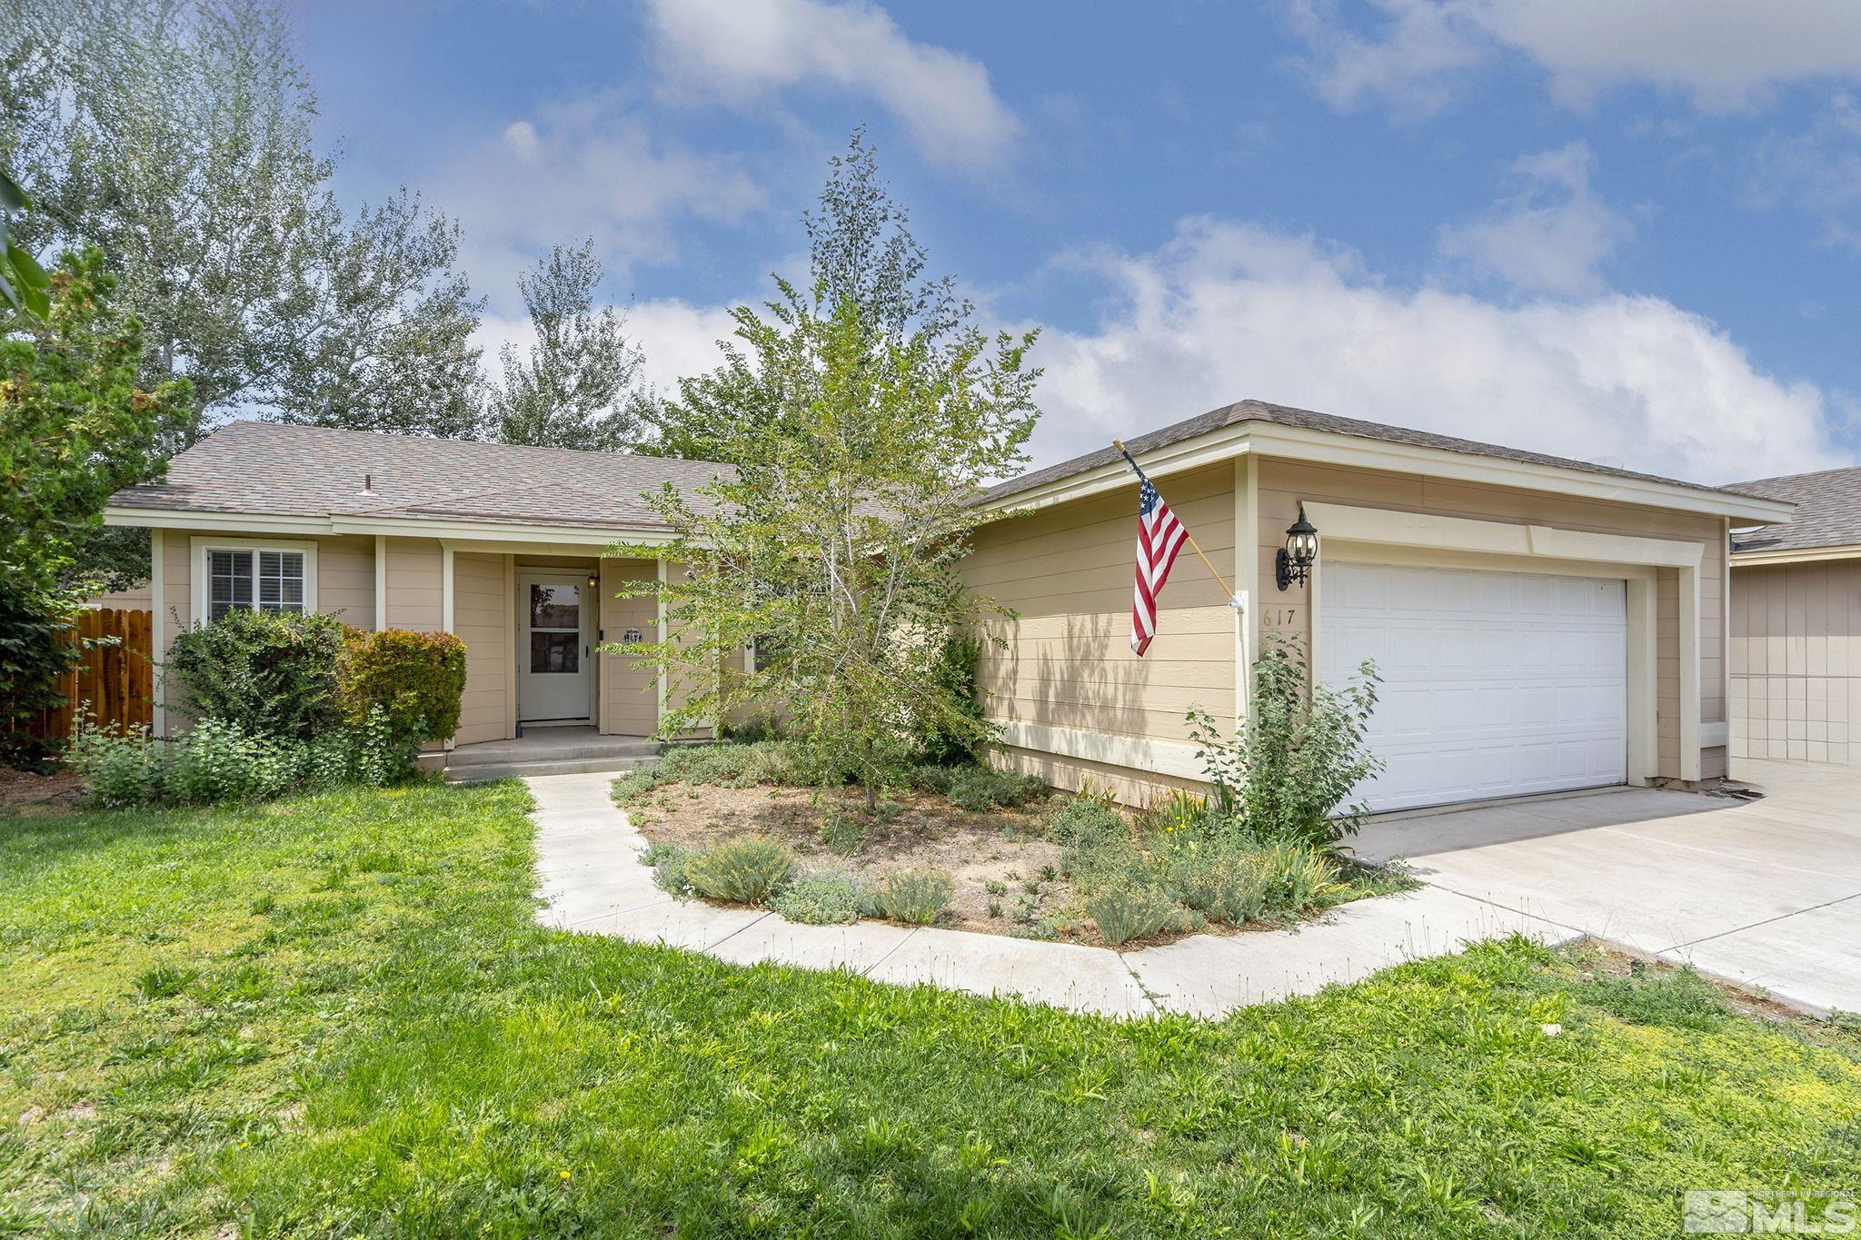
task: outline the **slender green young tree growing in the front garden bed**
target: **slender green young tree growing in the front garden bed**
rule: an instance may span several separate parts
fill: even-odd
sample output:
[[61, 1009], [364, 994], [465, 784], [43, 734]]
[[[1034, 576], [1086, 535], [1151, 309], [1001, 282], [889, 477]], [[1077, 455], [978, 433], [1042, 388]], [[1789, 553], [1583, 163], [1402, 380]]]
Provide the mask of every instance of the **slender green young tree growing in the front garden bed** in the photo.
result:
[[[813, 288], [778, 279], [763, 314], [733, 310], [724, 366], [681, 385], [681, 446], [735, 468], [655, 496], [676, 541], [642, 554], [685, 571], [661, 589], [664, 632], [625, 649], [670, 669], [666, 734], [780, 706], [819, 770], [877, 805], [919, 738], [988, 740], [938, 658], [994, 608], [955, 565], [975, 489], [1025, 461], [1040, 372], [1031, 333], [990, 338], [947, 283], [919, 283], [858, 134], [823, 208]], [[754, 667], [722, 671], [752, 645]]]

